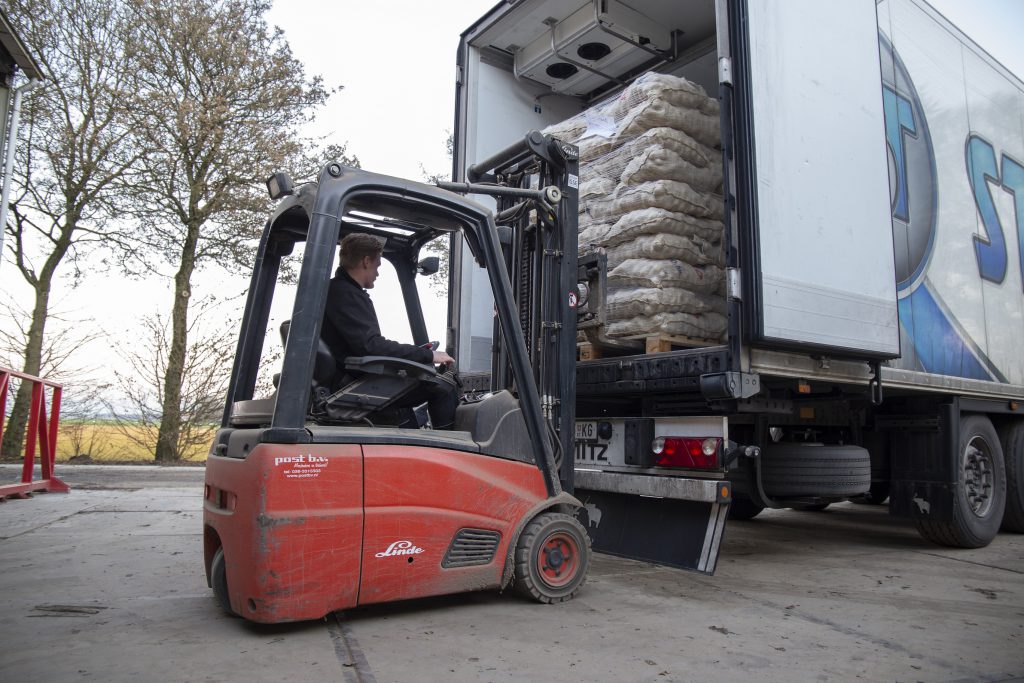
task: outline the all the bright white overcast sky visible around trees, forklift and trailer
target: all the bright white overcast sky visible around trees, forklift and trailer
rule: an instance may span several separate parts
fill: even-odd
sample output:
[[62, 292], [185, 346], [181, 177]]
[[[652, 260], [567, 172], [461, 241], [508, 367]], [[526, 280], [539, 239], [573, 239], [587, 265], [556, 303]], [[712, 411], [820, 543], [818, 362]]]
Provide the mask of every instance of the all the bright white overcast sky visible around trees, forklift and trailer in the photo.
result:
[[[583, 0], [581, 0], [581, 4]], [[307, 74], [342, 86], [321, 113], [311, 132], [348, 144], [368, 170], [423, 179], [424, 169], [447, 175], [445, 140], [453, 129], [455, 59], [460, 34], [497, 0], [276, 0], [267, 18], [281, 27]], [[1024, 0], [934, 0], [940, 12], [1024, 78]], [[66, 269], [67, 272], [67, 269]], [[169, 272], [169, 271], [168, 271]], [[112, 348], [130, 346], [144, 314], [166, 311], [171, 283], [165, 276], [127, 282], [116, 271], [96, 269], [70, 290], [61, 280], [54, 308], [79, 321], [82, 330], [101, 330], [110, 339], [92, 344], [90, 365], [118, 366]], [[240, 295], [246, 276], [207, 271], [196, 295]], [[396, 301], [383, 286], [373, 293], [378, 310]], [[30, 291], [9, 262], [0, 264], [0, 296], [31, 306]], [[443, 340], [444, 306], [428, 296], [431, 337]], [[242, 303], [237, 304], [241, 307]], [[406, 340], [408, 328], [381, 315], [385, 335]], [[123, 365], [123, 364], [121, 364]]]

